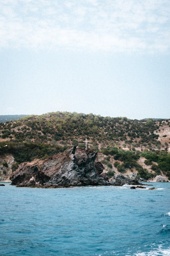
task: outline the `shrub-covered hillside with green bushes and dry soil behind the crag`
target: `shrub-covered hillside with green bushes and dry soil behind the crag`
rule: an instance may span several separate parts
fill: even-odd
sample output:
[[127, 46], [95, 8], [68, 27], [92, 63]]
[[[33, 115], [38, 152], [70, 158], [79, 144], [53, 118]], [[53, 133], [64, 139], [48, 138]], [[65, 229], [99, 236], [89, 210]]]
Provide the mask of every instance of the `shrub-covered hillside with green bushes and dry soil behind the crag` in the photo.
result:
[[[12, 154], [13, 170], [19, 163], [45, 159], [71, 145], [88, 148], [106, 156], [110, 173], [116, 169], [138, 172], [145, 179], [162, 172], [170, 178], [170, 119], [131, 120], [126, 117], [55, 112], [24, 116], [0, 123], [0, 154]], [[114, 166], [109, 157], [114, 158]], [[151, 172], [138, 163], [146, 158]]]

